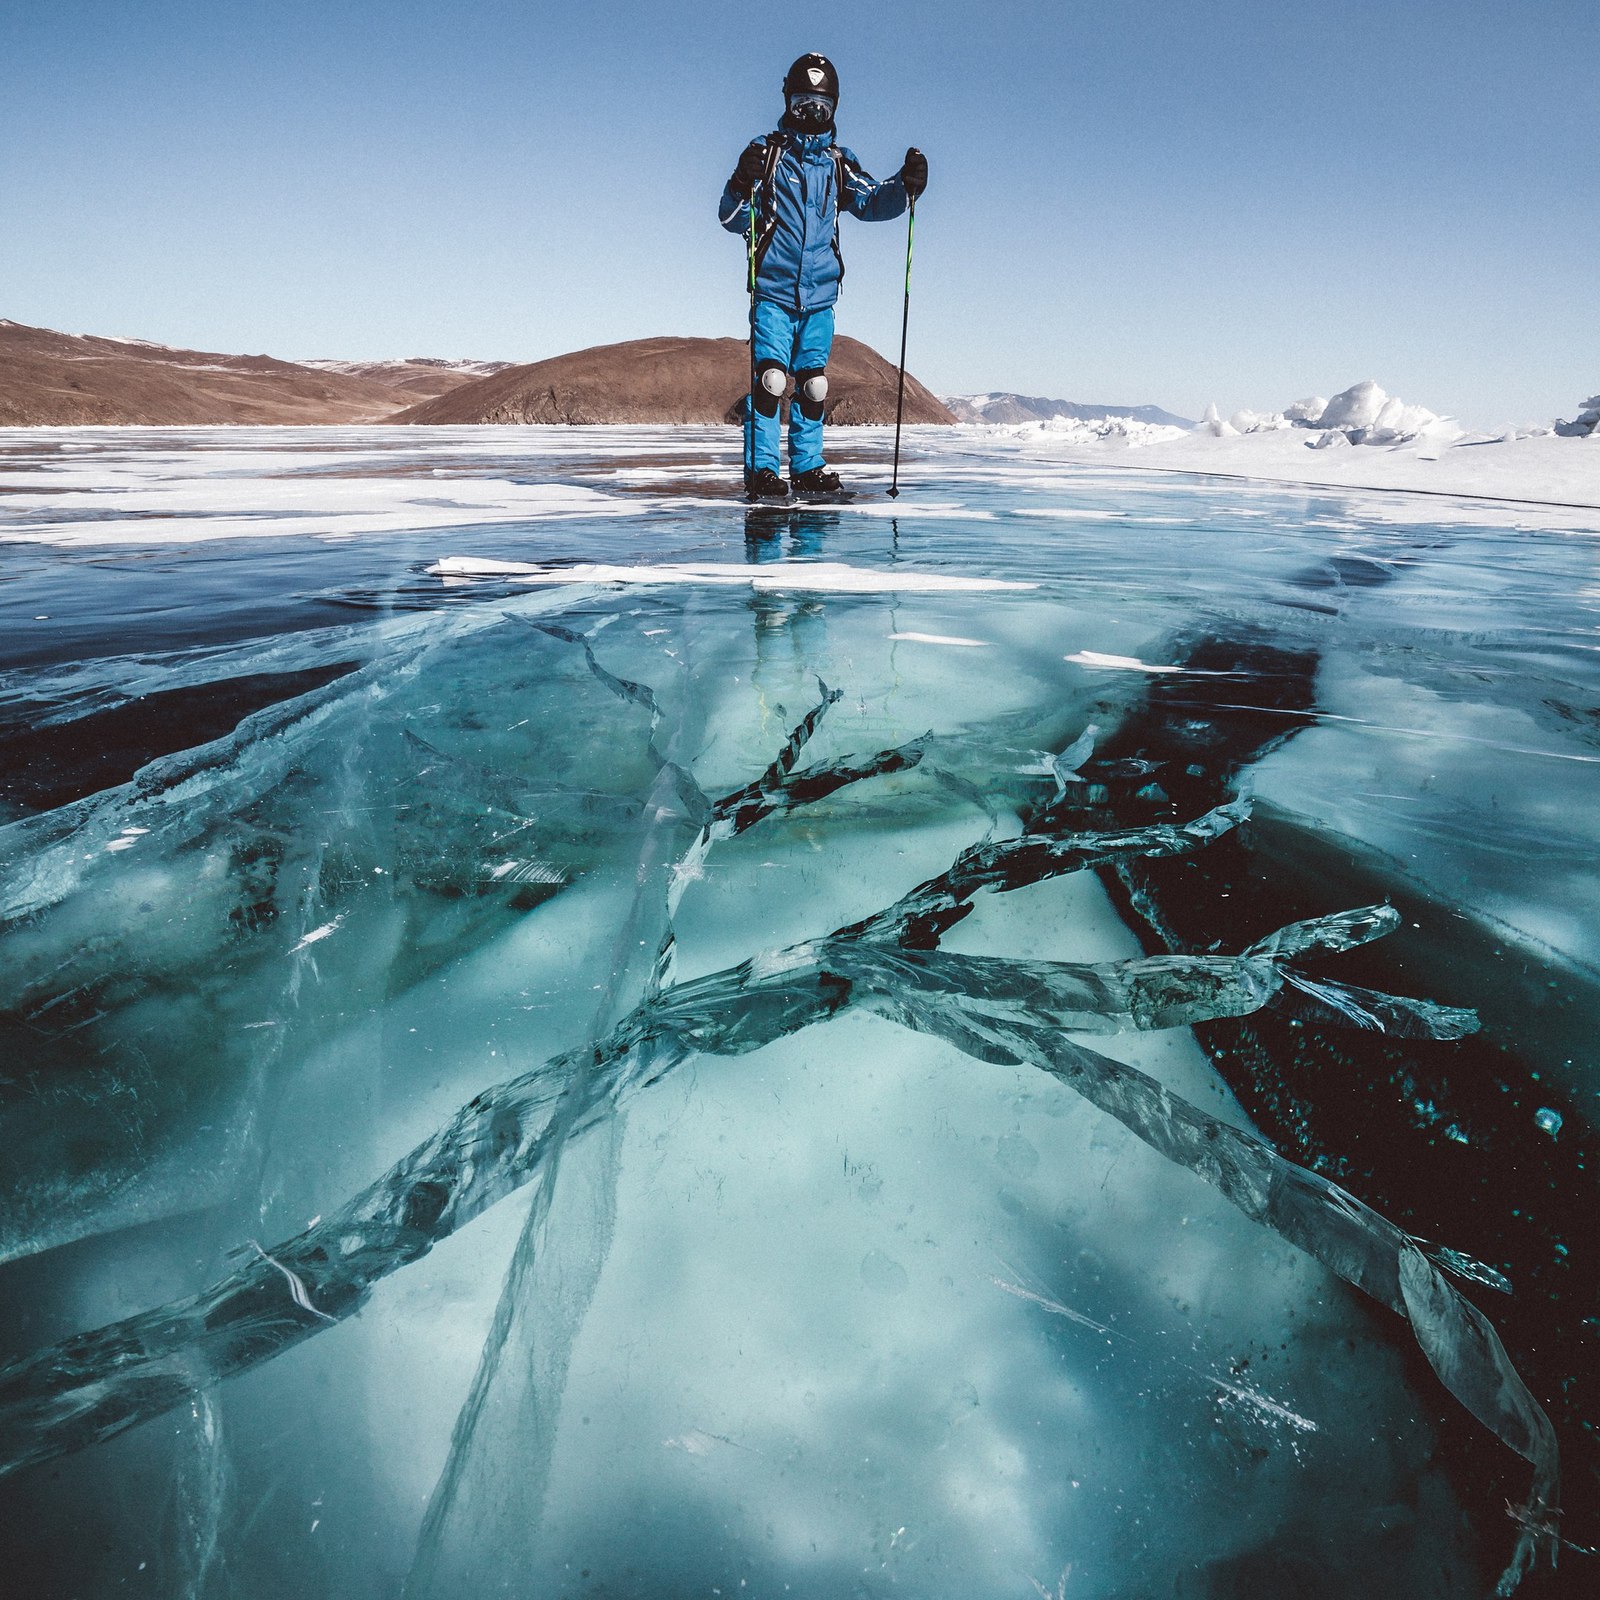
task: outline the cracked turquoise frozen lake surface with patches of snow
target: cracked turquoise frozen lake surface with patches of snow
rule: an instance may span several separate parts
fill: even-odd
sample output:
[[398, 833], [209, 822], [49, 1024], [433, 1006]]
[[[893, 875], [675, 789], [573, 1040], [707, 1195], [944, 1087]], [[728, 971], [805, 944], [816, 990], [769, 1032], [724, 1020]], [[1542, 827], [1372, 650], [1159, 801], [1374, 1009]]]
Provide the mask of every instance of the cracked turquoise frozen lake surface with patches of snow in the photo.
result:
[[1594, 514], [835, 445], [0, 432], [26, 1592], [1594, 1592]]

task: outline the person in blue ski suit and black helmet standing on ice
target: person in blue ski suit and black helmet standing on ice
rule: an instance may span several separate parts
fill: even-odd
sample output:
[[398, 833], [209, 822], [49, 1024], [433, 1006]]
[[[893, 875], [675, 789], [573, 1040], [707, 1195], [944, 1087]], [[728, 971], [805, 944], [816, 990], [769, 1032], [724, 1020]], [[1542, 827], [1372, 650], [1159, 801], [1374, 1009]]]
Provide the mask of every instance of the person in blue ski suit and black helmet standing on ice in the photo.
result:
[[739, 157], [717, 210], [730, 234], [747, 232], [754, 213], [754, 408], [744, 462], [744, 486], [752, 499], [787, 494], [778, 475], [778, 408], [790, 374], [790, 486], [797, 494], [838, 493], [838, 475], [822, 461], [824, 368], [834, 344], [834, 301], [845, 275], [838, 213], [886, 222], [928, 186], [928, 158], [920, 150], [907, 150], [906, 165], [880, 184], [834, 142], [838, 74], [826, 56], [802, 56], [789, 69], [784, 102], [778, 128], [752, 139]]

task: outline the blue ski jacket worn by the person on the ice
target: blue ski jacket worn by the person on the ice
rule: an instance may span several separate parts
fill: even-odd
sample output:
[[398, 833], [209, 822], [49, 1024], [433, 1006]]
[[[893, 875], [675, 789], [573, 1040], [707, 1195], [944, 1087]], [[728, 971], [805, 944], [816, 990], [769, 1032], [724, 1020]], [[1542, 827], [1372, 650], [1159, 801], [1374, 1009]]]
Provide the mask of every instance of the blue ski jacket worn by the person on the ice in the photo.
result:
[[875, 182], [830, 133], [779, 126], [762, 142], [766, 178], [750, 200], [731, 186], [723, 189], [717, 218], [730, 234], [742, 234], [755, 206], [757, 299], [798, 312], [832, 306], [845, 277], [840, 210], [864, 222], [888, 222], [906, 210], [906, 186], [898, 173]]

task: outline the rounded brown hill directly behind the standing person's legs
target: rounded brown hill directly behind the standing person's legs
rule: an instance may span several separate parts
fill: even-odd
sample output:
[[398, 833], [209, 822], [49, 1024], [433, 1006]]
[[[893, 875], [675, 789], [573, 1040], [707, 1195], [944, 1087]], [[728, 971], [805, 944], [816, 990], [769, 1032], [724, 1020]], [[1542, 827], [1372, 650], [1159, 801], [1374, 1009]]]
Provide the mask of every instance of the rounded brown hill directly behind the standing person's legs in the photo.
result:
[[[392, 422], [736, 422], [750, 387], [744, 339], [629, 339], [507, 366]], [[834, 341], [830, 422], [893, 422], [896, 368], [858, 339]], [[954, 422], [906, 374], [907, 422]]]

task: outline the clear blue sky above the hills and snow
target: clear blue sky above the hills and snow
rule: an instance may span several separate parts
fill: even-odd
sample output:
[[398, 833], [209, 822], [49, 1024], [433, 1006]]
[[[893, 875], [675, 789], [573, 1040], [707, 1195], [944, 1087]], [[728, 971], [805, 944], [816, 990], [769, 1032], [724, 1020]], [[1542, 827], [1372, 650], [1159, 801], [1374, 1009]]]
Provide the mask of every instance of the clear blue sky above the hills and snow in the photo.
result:
[[[8, 0], [0, 315], [275, 355], [534, 360], [744, 326], [714, 216], [805, 50], [931, 160], [933, 387], [1467, 422], [1600, 389], [1579, 0]], [[899, 333], [904, 226], [840, 326]]]

